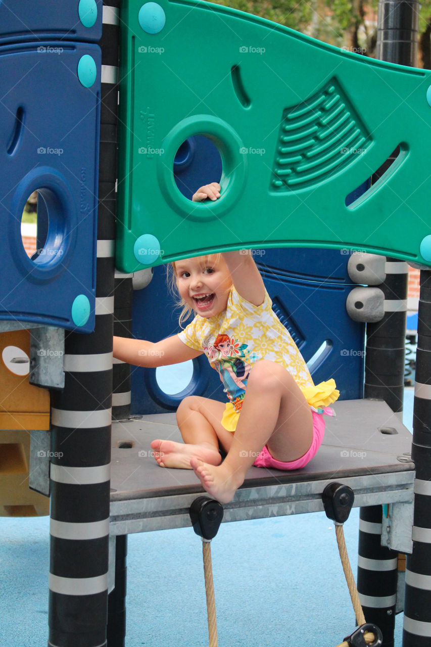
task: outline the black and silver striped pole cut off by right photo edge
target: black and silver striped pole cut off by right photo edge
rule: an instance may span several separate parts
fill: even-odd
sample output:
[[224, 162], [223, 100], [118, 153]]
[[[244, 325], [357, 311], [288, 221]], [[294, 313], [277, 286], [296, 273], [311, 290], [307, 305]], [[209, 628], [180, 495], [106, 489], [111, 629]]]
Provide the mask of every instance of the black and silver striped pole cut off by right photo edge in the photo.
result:
[[431, 644], [431, 271], [421, 270], [412, 458], [413, 551], [406, 560], [403, 647]]

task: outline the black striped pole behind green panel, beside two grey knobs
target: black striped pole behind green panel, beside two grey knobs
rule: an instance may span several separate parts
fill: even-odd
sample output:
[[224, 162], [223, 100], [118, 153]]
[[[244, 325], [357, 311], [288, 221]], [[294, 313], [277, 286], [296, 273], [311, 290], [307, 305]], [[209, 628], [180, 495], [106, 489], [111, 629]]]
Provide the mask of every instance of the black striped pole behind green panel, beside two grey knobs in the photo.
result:
[[[377, 58], [415, 66], [418, 14], [416, 0], [379, 0]], [[396, 155], [395, 150], [392, 157]], [[381, 174], [391, 161], [379, 170]], [[384, 317], [367, 324], [364, 397], [385, 400], [401, 416], [408, 267], [403, 261], [387, 258], [385, 273], [386, 280], [379, 285], [384, 292]], [[397, 553], [381, 546], [381, 524], [381, 506], [360, 510], [358, 590], [366, 620], [381, 628], [383, 644], [389, 647], [395, 627]]]

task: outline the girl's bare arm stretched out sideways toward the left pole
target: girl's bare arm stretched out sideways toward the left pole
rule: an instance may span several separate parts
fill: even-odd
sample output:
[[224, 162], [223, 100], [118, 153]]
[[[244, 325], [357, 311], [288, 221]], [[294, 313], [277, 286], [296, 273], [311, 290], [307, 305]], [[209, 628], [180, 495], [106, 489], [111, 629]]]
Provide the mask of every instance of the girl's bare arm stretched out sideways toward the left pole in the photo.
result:
[[192, 360], [202, 355], [202, 351], [188, 347], [174, 334], [155, 343], [129, 337], [114, 337], [113, 355], [127, 364], [154, 368]]

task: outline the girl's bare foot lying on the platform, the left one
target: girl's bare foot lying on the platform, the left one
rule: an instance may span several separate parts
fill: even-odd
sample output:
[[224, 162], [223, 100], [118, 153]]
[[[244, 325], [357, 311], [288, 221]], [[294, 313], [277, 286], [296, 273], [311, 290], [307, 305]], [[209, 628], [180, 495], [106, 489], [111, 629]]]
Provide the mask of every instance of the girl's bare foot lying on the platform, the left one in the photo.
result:
[[179, 467], [191, 470], [192, 457], [202, 459], [211, 465], [219, 465], [221, 455], [209, 444], [175, 443], [174, 441], [155, 440], [151, 443], [154, 458], [160, 467]]

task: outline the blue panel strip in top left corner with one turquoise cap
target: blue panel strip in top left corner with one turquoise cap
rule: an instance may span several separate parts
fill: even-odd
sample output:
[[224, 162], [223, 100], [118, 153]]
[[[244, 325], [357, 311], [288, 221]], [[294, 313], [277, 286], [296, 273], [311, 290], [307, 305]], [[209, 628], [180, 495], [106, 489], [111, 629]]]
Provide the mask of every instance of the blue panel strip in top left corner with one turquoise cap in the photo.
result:
[[[102, 0], [0, 1], [0, 45], [35, 40], [102, 38]], [[91, 25], [85, 27], [82, 22]]]

